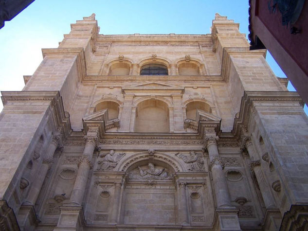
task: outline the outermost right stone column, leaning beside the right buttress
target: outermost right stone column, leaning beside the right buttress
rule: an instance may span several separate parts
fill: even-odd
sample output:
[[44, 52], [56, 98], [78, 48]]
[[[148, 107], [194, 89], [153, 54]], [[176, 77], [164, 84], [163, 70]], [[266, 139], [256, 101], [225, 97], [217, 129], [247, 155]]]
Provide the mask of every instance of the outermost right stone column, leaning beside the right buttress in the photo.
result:
[[263, 171], [261, 169], [261, 162], [258, 159], [258, 155], [255, 152], [254, 145], [251, 139], [247, 139], [245, 146], [251, 158], [251, 170], [254, 171], [255, 177], [258, 181], [264, 204], [267, 209], [273, 208], [275, 207], [274, 198], [272, 197], [271, 191], [268, 190], [270, 187], [268, 187], [267, 180], [263, 175]]

